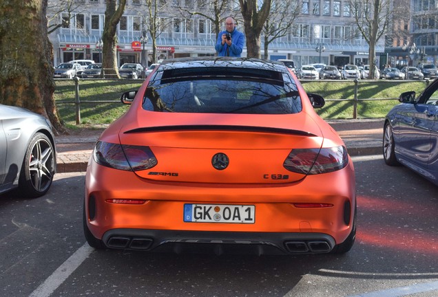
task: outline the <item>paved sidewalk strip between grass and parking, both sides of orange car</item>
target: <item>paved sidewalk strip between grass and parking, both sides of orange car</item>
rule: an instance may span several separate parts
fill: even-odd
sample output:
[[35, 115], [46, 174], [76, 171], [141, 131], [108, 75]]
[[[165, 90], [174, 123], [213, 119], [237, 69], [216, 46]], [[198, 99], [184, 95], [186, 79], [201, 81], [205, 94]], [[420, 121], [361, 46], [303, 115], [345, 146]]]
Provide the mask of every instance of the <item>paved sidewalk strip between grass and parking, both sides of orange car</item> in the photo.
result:
[[[344, 140], [348, 153], [357, 155], [379, 155], [382, 153], [384, 119], [329, 120], [333, 129]], [[56, 137], [58, 152], [57, 172], [70, 173], [87, 170], [87, 163], [101, 131], [88, 137]]]

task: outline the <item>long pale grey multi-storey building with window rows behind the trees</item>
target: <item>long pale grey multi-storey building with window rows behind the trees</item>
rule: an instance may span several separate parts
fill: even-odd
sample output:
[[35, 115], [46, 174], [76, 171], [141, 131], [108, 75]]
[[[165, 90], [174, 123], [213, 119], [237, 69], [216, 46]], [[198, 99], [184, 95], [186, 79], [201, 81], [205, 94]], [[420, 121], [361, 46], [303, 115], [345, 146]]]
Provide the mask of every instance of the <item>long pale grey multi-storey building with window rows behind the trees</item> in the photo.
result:
[[[269, 44], [269, 58], [293, 59], [295, 65], [324, 63], [345, 65], [348, 63], [368, 64], [368, 43], [357, 34], [353, 14], [348, 0], [296, 0], [300, 5], [300, 17], [287, 36], [275, 39]], [[56, 14], [55, 0], [49, 0], [48, 17], [61, 27], [49, 35], [54, 46], [54, 65], [75, 59], [101, 61], [101, 36], [105, 20], [106, 0], [79, 0], [69, 14]], [[164, 1], [165, 2], [165, 1]], [[169, 11], [176, 11], [172, 3], [178, 2], [187, 8], [194, 8], [196, 1], [171, 1], [169, 8], [160, 13], [163, 30], [157, 39], [158, 61], [165, 58], [190, 56], [214, 56], [216, 34], [208, 19], [194, 16], [190, 19], [171, 17]], [[185, 2], [185, 3], [181, 3]], [[59, 10], [59, 9], [58, 9]], [[140, 36], [146, 32], [147, 8], [140, 0], [127, 0], [123, 17], [118, 24], [118, 62], [143, 63], [143, 47], [149, 54], [152, 45], [140, 43]], [[174, 14], [177, 16], [178, 14]], [[235, 14], [237, 15], [237, 13]], [[238, 25], [243, 31], [243, 26]], [[263, 40], [263, 39], [262, 39]], [[263, 44], [261, 46], [263, 48]], [[242, 56], [246, 55], [246, 47]], [[376, 46], [376, 56], [384, 53], [384, 41]], [[148, 63], [151, 57], [148, 58]]]

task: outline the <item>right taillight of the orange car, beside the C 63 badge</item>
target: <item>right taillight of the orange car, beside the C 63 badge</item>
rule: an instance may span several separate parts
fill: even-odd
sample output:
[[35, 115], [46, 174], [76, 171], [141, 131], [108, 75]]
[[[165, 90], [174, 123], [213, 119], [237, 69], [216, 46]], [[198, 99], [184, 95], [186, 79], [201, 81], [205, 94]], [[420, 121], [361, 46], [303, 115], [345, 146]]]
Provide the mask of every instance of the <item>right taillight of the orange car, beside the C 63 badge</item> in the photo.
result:
[[347, 166], [345, 146], [333, 148], [298, 148], [289, 153], [283, 166], [289, 171], [304, 175], [331, 173]]

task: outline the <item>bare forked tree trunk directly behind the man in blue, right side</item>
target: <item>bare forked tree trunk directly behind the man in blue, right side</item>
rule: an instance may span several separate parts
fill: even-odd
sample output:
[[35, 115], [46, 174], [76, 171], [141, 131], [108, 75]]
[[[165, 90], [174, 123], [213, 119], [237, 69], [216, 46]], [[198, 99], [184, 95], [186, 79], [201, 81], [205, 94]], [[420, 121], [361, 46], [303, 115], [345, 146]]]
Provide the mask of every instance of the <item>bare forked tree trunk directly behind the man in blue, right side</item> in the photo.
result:
[[[248, 58], [260, 58], [260, 33], [268, 19], [272, 0], [239, 0], [245, 35], [247, 37]], [[259, 3], [262, 4], [259, 7]]]

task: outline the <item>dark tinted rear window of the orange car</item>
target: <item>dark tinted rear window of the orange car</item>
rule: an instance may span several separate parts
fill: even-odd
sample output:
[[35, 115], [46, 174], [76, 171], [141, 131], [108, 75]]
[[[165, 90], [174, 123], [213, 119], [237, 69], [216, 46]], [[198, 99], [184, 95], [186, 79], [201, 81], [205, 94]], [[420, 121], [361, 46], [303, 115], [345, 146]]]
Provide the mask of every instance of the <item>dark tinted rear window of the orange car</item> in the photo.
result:
[[258, 69], [158, 71], [143, 96], [143, 109], [178, 113], [287, 114], [302, 110], [289, 74]]

